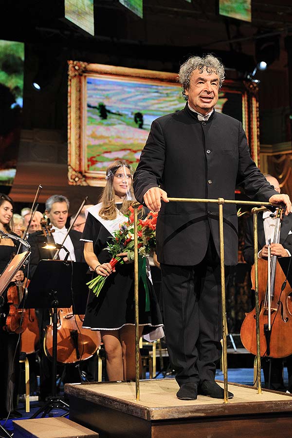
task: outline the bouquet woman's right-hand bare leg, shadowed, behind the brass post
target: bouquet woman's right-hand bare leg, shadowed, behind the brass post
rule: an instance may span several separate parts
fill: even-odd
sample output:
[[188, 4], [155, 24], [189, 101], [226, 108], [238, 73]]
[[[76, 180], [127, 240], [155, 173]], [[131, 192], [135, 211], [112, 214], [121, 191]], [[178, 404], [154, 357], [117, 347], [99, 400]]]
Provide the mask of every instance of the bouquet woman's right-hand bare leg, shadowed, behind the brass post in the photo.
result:
[[[139, 339], [142, 335], [143, 327], [139, 327]], [[123, 349], [124, 361], [124, 380], [135, 380], [135, 326], [124, 326], [119, 330], [120, 341]], [[140, 358], [140, 377], [142, 375], [142, 366]]]

